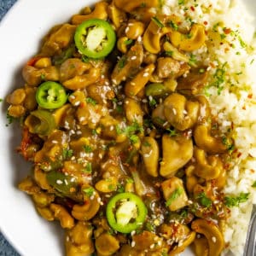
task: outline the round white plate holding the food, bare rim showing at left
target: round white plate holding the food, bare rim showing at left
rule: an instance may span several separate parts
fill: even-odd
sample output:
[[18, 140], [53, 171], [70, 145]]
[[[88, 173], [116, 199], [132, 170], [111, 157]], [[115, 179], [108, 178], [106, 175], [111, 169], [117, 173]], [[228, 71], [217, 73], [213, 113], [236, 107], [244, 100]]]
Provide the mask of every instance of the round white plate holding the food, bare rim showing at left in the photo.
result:
[[[247, 3], [256, 14], [256, 2]], [[49, 28], [64, 22], [84, 5], [94, 0], [19, 0], [0, 23], [0, 97], [22, 86], [20, 68], [37, 52], [40, 38]], [[6, 107], [0, 112], [0, 229], [17, 251], [24, 256], [61, 256], [63, 237], [57, 225], [48, 223], [35, 212], [32, 201], [16, 189], [18, 181], [26, 177], [29, 165], [15, 147], [20, 143], [20, 130], [6, 127]], [[17, 126], [17, 125], [16, 125]], [[186, 252], [183, 255], [191, 255]]]

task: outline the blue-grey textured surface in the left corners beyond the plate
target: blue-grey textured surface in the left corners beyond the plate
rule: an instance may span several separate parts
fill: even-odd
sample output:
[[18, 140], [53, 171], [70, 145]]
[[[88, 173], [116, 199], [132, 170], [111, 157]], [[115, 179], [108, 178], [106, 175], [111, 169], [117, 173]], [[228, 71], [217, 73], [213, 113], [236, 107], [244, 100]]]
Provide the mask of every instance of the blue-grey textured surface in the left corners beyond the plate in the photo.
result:
[[[3, 16], [13, 6], [15, 2], [16, 0], [0, 0], [0, 20], [3, 19]], [[20, 256], [20, 254], [16, 253], [15, 249], [10, 246], [9, 242], [5, 240], [1, 232], [0, 232], [0, 256]]]

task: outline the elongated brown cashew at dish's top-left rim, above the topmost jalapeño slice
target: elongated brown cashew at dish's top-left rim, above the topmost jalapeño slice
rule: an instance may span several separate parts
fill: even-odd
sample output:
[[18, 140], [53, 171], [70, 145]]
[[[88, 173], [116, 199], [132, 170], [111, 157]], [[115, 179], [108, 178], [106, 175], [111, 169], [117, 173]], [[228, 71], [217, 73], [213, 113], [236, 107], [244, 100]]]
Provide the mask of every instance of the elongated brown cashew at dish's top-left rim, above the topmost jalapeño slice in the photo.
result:
[[108, 19], [108, 3], [105, 1], [99, 2], [95, 4], [95, 9], [88, 15], [73, 15], [71, 19], [71, 23], [74, 25], [78, 25], [82, 23], [84, 20], [90, 19]]

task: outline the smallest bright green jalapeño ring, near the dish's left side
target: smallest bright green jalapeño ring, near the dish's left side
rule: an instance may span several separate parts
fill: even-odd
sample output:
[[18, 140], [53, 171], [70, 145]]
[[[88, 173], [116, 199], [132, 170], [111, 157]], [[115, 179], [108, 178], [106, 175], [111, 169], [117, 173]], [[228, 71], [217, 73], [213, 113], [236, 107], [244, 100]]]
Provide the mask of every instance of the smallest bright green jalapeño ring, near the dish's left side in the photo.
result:
[[36, 100], [41, 108], [60, 108], [67, 102], [67, 93], [61, 84], [47, 81], [38, 86]]

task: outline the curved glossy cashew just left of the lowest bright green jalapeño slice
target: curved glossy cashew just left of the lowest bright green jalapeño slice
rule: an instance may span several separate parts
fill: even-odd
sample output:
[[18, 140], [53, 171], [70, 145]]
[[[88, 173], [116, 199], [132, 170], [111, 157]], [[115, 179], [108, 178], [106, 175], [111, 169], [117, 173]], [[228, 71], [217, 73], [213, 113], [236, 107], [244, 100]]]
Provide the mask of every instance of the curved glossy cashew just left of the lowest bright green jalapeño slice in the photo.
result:
[[[90, 189], [85, 187], [84, 189]], [[91, 188], [92, 189], [92, 188]], [[95, 189], [93, 189], [92, 195], [84, 195], [83, 205], [74, 205], [72, 209], [72, 215], [79, 220], [89, 220], [93, 218], [100, 209], [100, 197]]]

